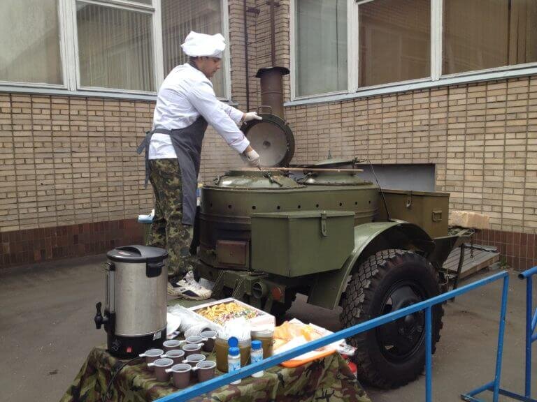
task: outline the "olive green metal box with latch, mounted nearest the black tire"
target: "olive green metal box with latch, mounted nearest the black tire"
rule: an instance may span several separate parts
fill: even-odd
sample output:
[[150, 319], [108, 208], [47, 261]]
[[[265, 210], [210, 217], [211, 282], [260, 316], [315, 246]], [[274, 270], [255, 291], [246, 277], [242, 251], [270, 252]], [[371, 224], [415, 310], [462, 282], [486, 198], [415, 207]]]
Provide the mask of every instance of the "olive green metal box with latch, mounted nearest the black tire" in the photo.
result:
[[252, 269], [294, 277], [340, 269], [355, 246], [351, 211], [252, 214]]

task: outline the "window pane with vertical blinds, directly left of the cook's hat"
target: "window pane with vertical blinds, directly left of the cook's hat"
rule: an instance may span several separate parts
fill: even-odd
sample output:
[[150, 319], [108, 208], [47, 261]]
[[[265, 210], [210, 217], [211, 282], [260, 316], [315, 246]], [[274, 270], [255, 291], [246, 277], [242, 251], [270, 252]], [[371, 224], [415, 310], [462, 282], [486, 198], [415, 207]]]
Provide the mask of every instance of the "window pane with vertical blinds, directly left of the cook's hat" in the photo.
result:
[[80, 84], [155, 91], [151, 18], [77, 1]]

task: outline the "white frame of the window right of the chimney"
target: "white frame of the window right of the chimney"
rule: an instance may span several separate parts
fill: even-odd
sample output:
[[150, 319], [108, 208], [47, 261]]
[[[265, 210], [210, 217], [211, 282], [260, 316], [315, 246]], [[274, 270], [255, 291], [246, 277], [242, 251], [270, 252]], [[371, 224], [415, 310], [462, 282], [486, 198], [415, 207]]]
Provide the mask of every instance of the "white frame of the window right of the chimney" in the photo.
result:
[[499, 79], [499, 77], [519, 77], [535, 73], [537, 61], [512, 66], [501, 66], [483, 70], [465, 71], [462, 73], [442, 73], [443, 47], [443, 5], [445, 0], [429, 0], [431, 3], [431, 66], [429, 77], [386, 84], [359, 87], [359, 6], [378, 0], [347, 0], [347, 57], [348, 57], [348, 88], [347, 90], [323, 94], [297, 96], [296, 94], [296, 1], [289, 3], [289, 36], [290, 36], [290, 67], [291, 67], [291, 98], [285, 105], [305, 105], [340, 101], [360, 96], [390, 94], [410, 89], [439, 87], [448, 84], [464, 84], [468, 82]]

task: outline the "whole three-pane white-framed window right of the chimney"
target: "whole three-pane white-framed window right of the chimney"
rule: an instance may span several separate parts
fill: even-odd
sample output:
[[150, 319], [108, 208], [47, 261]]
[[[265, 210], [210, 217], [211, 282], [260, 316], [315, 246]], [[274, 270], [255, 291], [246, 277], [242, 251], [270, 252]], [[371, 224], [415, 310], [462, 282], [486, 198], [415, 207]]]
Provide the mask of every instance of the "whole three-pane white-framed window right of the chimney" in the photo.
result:
[[291, 10], [299, 103], [516, 77], [537, 66], [537, 0], [291, 0]]

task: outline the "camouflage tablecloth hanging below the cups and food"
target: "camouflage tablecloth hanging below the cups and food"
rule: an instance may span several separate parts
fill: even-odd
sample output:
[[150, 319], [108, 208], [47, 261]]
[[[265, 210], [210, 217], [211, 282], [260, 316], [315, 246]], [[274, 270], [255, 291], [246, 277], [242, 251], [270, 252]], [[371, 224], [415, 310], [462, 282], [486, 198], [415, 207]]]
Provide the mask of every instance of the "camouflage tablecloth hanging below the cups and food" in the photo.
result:
[[[101, 402], [111, 376], [125, 362], [111, 356], [106, 348], [94, 348], [60, 402]], [[177, 391], [171, 381], [157, 382], [145, 363], [138, 359], [117, 373], [108, 401], [154, 401]], [[297, 368], [272, 367], [263, 377], [243, 378], [239, 385], [215, 389], [194, 401], [371, 402], [337, 353]]]

